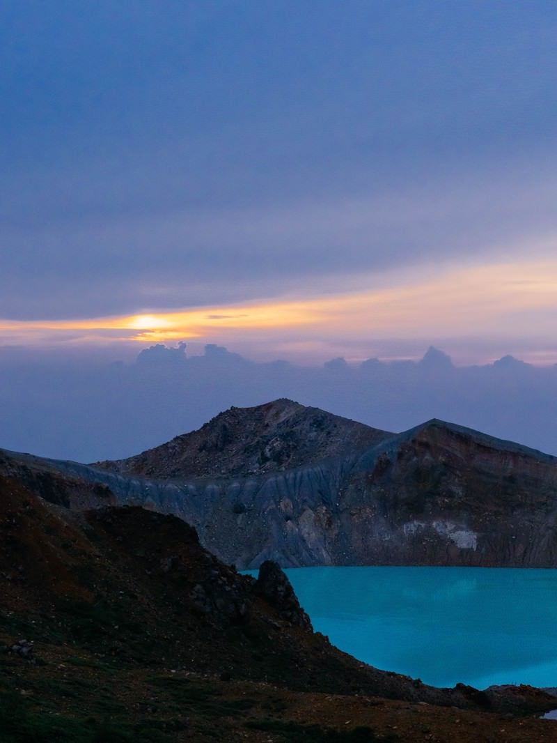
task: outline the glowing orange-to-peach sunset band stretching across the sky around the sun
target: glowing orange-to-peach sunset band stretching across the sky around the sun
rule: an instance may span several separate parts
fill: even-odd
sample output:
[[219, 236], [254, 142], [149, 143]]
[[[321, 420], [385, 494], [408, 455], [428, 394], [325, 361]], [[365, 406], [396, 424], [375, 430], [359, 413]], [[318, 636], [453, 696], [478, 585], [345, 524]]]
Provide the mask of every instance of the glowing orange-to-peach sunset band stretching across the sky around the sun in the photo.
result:
[[[371, 276], [371, 280], [377, 276]], [[4, 343], [40, 343], [71, 333], [99, 343], [204, 339], [260, 339], [273, 345], [284, 334], [291, 343], [328, 336], [350, 339], [512, 337], [553, 335], [557, 313], [557, 260], [462, 267], [385, 286], [297, 301], [150, 311], [88, 320], [0, 321]]]

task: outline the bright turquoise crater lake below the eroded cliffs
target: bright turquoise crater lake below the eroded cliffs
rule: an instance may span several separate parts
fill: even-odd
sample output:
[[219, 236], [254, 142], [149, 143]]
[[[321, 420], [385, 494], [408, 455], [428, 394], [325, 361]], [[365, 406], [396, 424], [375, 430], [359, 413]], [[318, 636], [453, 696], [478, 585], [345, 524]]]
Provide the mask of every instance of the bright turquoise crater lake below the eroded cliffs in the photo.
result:
[[435, 686], [557, 687], [557, 570], [285, 572], [314, 629], [377, 668]]

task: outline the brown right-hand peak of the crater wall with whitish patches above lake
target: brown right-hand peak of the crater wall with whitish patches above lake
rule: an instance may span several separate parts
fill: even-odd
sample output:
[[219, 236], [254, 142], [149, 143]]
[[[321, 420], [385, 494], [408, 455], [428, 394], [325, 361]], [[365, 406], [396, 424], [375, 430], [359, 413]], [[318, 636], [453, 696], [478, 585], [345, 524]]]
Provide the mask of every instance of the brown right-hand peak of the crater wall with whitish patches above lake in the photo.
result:
[[431, 421], [355, 470], [344, 523], [358, 562], [557, 565], [555, 458]]

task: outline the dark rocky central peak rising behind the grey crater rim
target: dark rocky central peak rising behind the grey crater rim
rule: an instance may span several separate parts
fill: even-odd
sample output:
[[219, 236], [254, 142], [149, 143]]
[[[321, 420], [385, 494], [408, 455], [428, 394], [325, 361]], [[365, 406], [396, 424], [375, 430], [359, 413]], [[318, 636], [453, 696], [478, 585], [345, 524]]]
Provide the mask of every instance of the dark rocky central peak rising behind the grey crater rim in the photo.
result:
[[254, 408], [232, 407], [198, 431], [137, 456], [95, 466], [160, 479], [245, 477], [307, 467], [369, 448], [391, 435], [281, 398]]

